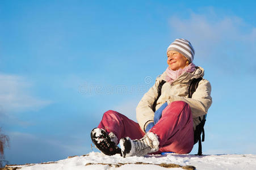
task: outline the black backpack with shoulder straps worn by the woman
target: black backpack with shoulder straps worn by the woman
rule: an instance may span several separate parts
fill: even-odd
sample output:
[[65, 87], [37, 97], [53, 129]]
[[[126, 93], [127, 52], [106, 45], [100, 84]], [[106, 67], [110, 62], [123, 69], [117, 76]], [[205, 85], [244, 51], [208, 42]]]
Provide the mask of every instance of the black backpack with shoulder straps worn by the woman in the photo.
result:
[[[193, 79], [192, 82], [190, 83], [190, 87], [188, 88], [188, 97], [191, 98], [192, 95], [194, 94], [194, 92], [196, 91], [196, 88], [198, 88], [198, 84], [199, 82], [202, 80], [203, 78], [198, 78], [198, 79]], [[163, 84], [165, 84], [166, 81], [162, 80], [160, 82], [160, 84], [158, 85], [158, 96], [157, 99], [154, 101], [153, 103], [153, 111], [156, 112], [156, 105], [157, 105], [157, 100], [159, 99], [159, 97], [161, 96], [161, 90], [162, 90], [162, 86]], [[202, 142], [204, 142], [204, 124], [206, 121], [206, 116], [203, 116], [203, 119], [201, 117], [199, 117], [200, 120], [200, 124], [196, 126], [196, 130], [194, 131], [194, 145], [196, 143], [198, 143], [198, 154], [197, 155], [202, 155]], [[202, 135], [202, 142], [201, 142], [201, 134]]]

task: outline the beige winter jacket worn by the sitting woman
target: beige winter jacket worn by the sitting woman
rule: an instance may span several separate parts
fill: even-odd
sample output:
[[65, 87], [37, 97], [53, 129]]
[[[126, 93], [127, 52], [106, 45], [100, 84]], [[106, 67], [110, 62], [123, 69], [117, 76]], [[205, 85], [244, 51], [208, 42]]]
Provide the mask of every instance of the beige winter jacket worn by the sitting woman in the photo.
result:
[[[192, 98], [188, 98], [188, 87], [190, 86], [192, 79], [200, 77], [203, 78], [203, 76], [204, 69], [202, 67], [196, 67], [194, 72], [180, 75], [172, 84], [168, 82], [163, 84], [161, 96], [157, 100], [156, 110], [160, 108], [162, 104], [166, 103], [166, 101], [168, 104], [173, 101], [185, 101], [190, 105], [195, 130], [196, 125], [200, 123], [199, 117], [202, 118], [212, 104], [211, 84], [208, 80], [202, 79], [198, 84], [198, 88], [196, 88], [196, 91], [192, 95]], [[137, 105], [137, 121], [139, 122], [141, 129], [144, 131], [150, 122], [154, 122], [152, 105], [158, 96], [157, 90], [161, 80], [166, 81], [165, 72], [158, 76], [154, 86], [146, 92]]]

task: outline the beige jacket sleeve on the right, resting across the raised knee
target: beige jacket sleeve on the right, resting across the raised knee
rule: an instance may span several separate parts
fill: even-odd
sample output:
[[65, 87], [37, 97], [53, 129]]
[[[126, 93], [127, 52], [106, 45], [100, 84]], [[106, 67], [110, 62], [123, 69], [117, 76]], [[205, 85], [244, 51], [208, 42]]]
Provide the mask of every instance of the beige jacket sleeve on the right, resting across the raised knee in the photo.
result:
[[192, 117], [199, 117], [207, 114], [209, 107], [212, 104], [211, 97], [211, 84], [208, 80], [201, 80], [198, 84], [198, 88], [192, 95], [192, 98], [182, 97], [182, 96], [169, 96], [167, 103], [171, 103], [173, 101], [185, 101], [188, 105], [190, 105]]

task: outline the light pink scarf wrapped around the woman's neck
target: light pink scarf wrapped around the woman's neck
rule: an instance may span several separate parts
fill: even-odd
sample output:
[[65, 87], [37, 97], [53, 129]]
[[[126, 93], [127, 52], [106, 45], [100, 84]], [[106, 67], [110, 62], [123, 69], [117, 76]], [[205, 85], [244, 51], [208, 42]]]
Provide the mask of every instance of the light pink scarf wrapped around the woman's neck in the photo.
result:
[[171, 70], [169, 69], [169, 66], [167, 67], [167, 69], [165, 70], [167, 76], [166, 76], [166, 80], [167, 82], [169, 82], [170, 84], [173, 83], [175, 80], [177, 80], [177, 78], [182, 75], [183, 73], [192, 73], [193, 71], [195, 71], [195, 65], [194, 63], [190, 63], [188, 66], [184, 67], [183, 69], [179, 69], [179, 70]]

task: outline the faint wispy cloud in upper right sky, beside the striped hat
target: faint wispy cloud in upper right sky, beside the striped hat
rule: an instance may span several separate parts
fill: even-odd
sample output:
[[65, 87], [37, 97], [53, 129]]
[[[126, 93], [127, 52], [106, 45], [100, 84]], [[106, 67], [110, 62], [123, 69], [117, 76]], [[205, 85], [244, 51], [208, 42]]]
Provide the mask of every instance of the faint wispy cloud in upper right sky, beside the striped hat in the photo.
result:
[[[224, 17], [223, 17], [224, 16]], [[209, 14], [191, 13], [188, 19], [172, 16], [169, 20], [171, 37], [191, 41], [196, 51], [196, 59], [210, 63], [226, 62], [236, 65], [236, 59], [245, 67], [253, 67], [255, 62], [241, 61], [244, 56], [255, 56], [256, 28], [237, 16], [218, 15], [214, 10]], [[198, 60], [197, 60], [198, 61]], [[220, 63], [221, 64], [221, 63]]]

